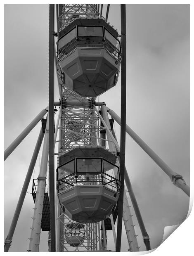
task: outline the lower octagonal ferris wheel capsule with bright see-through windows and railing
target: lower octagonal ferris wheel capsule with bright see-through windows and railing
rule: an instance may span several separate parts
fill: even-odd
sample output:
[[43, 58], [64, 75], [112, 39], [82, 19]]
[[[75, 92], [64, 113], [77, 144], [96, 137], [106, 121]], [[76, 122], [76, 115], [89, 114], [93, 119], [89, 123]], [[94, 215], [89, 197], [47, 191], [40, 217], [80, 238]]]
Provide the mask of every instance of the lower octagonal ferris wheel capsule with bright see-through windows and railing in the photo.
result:
[[59, 156], [57, 192], [64, 212], [79, 223], [105, 220], [118, 201], [116, 155], [103, 147], [76, 147]]

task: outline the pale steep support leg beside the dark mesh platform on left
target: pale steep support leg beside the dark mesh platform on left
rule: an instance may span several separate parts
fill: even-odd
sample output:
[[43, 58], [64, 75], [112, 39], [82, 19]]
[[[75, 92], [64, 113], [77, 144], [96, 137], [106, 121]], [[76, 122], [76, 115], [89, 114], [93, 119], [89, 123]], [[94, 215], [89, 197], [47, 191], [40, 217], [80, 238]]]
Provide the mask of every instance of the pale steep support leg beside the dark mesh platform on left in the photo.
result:
[[40, 229], [41, 219], [43, 212], [43, 201], [45, 194], [46, 176], [47, 176], [47, 163], [48, 163], [48, 150], [49, 150], [49, 119], [47, 117], [47, 124], [45, 129], [45, 139], [43, 144], [43, 153], [40, 163], [40, 173], [38, 175], [38, 186], [35, 198], [33, 221], [31, 226], [31, 236], [29, 238], [28, 251], [38, 251], [40, 242]]

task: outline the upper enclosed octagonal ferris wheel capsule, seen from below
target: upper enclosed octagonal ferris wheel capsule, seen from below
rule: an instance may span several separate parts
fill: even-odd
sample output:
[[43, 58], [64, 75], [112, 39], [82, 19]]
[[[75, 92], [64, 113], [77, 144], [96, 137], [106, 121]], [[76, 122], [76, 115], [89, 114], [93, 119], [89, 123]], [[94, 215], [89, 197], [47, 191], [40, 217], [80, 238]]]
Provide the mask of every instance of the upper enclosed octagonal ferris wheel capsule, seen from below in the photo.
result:
[[84, 97], [96, 97], [118, 80], [118, 32], [103, 19], [76, 19], [59, 32], [57, 69], [61, 82]]

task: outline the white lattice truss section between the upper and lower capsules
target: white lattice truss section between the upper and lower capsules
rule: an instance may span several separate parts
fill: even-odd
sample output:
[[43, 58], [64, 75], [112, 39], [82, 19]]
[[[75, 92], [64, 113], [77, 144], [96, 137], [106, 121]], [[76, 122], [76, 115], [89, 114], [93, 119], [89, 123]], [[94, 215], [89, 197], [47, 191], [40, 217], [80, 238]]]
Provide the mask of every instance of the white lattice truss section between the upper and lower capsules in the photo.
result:
[[76, 146], [100, 145], [99, 116], [92, 107], [91, 97], [81, 97], [63, 86], [61, 138], [59, 155]]

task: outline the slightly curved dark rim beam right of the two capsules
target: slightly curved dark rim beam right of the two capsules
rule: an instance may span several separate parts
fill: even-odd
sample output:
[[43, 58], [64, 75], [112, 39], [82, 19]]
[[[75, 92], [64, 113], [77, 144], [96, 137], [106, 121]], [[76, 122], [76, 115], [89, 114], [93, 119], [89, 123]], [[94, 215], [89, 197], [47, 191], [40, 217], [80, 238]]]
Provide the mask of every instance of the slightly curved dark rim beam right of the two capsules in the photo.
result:
[[120, 174], [121, 187], [118, 198], [118, 219], [116, 235], [116, 251], [121, 251], [122, 217], [123, 217], [123, 190], [125, 175], [125, 128], [126, 128], [126, 10], [121, 5], [121, 150], [120, 150]]

